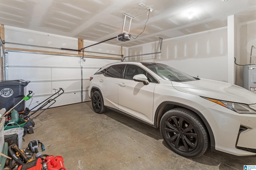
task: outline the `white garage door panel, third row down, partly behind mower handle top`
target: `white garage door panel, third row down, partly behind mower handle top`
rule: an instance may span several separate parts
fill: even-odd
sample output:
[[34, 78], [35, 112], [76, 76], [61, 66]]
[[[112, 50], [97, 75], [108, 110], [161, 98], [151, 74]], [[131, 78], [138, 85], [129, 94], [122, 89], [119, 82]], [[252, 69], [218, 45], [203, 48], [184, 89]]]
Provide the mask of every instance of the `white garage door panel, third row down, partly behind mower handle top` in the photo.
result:
[[52, 82], [52, 88], [63, 88], [64, 92], [81, 91], [81, 80]]

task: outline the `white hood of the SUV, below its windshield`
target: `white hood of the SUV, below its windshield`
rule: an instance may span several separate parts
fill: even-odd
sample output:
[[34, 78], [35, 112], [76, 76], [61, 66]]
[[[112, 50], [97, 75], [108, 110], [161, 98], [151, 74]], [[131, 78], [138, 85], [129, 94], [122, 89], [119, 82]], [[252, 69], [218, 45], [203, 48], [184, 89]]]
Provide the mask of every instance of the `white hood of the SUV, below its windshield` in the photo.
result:
[[228, 102], [256, 104], [256, 94], [240, 86], [216, 80], [200, 79], [189, 82], [172, 82], [181, 92]]

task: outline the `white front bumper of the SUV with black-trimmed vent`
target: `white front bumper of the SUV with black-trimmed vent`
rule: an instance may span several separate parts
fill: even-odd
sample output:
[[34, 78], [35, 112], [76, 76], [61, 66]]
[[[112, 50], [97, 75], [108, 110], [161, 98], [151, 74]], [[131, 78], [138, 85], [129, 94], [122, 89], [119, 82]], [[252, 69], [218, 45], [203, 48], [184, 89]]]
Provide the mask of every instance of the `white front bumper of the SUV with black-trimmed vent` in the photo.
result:
[[201, 113], [212, 128], [216, 150], [237, 156], [256, 155], [256, 114], [236, 113], [218, 104]]

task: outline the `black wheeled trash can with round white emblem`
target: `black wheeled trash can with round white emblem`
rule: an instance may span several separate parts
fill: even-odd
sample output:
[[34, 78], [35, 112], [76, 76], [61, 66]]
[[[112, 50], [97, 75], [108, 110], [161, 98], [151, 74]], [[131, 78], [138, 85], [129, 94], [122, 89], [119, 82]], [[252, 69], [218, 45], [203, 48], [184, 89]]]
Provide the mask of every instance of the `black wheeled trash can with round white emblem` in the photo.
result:
[[[26, 95], [25, 87], [29, 82], [25, 80], [0, 81], [0, 109], [5, 108], [8, 111], [20, 102]], [[24, 111], [25, 102], [22, 101], [15, 109], [18, 112]]]

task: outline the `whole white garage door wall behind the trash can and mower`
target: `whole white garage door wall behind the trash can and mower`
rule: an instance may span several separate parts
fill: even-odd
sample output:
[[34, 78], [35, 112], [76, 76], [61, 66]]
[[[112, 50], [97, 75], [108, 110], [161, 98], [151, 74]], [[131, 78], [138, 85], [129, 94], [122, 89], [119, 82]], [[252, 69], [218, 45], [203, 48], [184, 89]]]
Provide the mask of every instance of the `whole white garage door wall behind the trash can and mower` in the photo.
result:
[[[36, 102], [42, 102], [50, 97], [56, 92], [54, 89], [58, 88], [63, 88], [64, 94], [56, 98], [57, 102], [53, 106], [62, 106], [90, 100], [88, 97], [90, 76], [101, 66], [120, 61], [87, 57], [82, 59], [80, 56], [72, 55], [72, 53], [78, 54], [76, 51], [63, 51], [60, 49], [78, 49], [78, 39], [76, 38], [20, 29], [7, 25], [4, 27], [6, 49], [20, 48], [70, 53], [70, 55], [50, 55], [7, 50], [6, 64], [8, 67], [6, 68], [6, 80], [23, 79], [30, 81], [26, 86], [27, 91], [32, 90], [34, 92], [32, 104], [30, 105], [31, 100], [26, 102], [26, 106], [30, 105], [30, 109], [37, 105]], [[19, 45], [13, 43], [19, 43]], [[88, 46], [89, 43], [94, 44], [97, 42], [84, 41], [84, 46]], [[107, 44], [100, 44], [86, 49], [86, 51], [90, 50], [100, 51], [101, 53], [121, 54], [121, 47]], [[85, 54], [120, 58], [117, 55]]]

